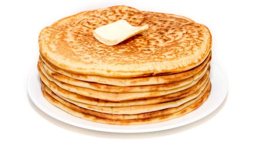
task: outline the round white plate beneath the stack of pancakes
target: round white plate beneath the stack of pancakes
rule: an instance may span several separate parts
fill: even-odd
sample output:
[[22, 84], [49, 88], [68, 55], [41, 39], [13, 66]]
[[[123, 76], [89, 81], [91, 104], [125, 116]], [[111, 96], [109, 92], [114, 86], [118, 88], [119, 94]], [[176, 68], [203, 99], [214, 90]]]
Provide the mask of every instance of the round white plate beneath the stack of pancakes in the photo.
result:
[[35, 69], [28, 81], [28, 93], [31, 100], [35, 103], [35, 105], [40, 108], [42, 111], [47, 113], [49, 116], [65, 122], [67, 124], [71, 124], [77, 127], [104, 131], [104, 132], [118, 132], [118, 133], [137, 133], [137, 132], [152, 132], [152, 131], [160, 131], [166, 129], [172, 129], [176, 127], [180, 127], [197, 120], [200, 120], [207, 115], [209, 115], [212, 111], [217, 109], [221, 103], [224, 101], [227, 95], [227, 82], [224, 74], [215, 64], [211, 64], [210, 69], [210, 80], [212, 83], [211, 93], [209, 98], [200, 106], [198, 109], [186, 114], [185, 116], [154, 124], [146, 124], [146, 125], [108, 125], [95, 123], [87, 120], [83, 120], [72, 115], [69, 115], [65, 111], [55, 107], [50, 104], [42, 95], [40, 89], [40, 81], [37, 70]]

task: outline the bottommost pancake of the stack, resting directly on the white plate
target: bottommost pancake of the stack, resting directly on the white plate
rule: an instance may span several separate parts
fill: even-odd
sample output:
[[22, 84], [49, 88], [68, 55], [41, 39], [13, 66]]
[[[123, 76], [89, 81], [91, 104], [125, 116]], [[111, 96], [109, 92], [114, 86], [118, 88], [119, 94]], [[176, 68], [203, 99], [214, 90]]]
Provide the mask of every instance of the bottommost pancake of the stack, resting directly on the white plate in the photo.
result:
[[[93, 122], [98, 122], [98, 123], [104, 123], [104, 124], [113, 124], [113, 125], [140, 125], [140, 124], [151, 124], [151, 123], [157, 123], [157, 122], [163, 122], [163, 121], [167, 121], [170, 119], [175, 119], [178, 118], [180, 116], [183, 116], [195, 109], [197, 109], [198, 107], [200, 107], [205, 100], [208, 98], [209, 94], [210, 94], [210, 86], [208, 88], [208, 90], [205, 92], [205, 94], [203, 95], [202, 98], [200, 98], [198, 101], [196, 101], [195, 103], [188, 105], [184, 108], [182, 108], [181, 110], [174, 112], [174, 113], [170, 113], [168, 115], [163, 115], [163, 116], [158, 116], [158, 117], [154, 117], [153, 118], [144, 118], [144, 119], [132, 119], [132, 120], [111, 120], [111, 119], [103, 119], [103, 118], [99, 118], [93, 115], [90, 115], [89, 113], [84, 113], [82, 111], [79, 111], [78, 106], [75, 106], [74, 104], [74, 109], [60, 103], [59, 101], [57, 101], [56, 99], [54, 99], [53, 97], [51, 97], [47, 92], [42, 91], [43, 95], [45, 96], [45, 98], [53, 105], [57, 106], [58, 108], [70, 113], [73, 116], [88, 120], [88, 121], [93, 121]], [[159, 115], [161, 115], [161, 111], [157, 111], [159, 113]], [[149, 114], [151, 114], [151, 112], [149, 112]], [[144, 114], [146, 115], [146, 114]], [[112, 116], [112, 115], [111, 115]], [[127, 115], [125, 115], [127, 116]], [[115, 117], [115, 115], [113, 115], [113, 117]]]

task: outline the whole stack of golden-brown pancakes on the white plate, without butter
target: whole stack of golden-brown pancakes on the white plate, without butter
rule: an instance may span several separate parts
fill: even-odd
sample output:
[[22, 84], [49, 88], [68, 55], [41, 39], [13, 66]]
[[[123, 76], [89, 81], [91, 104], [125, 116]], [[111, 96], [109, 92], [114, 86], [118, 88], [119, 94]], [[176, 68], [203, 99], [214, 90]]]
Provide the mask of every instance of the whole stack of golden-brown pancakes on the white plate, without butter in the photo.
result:
[[[149, 28], [115, 46], [93, 36], [120, 19]], [[210, 94], [210, 32], [182, 16], [126, 6], [85, 11], [44, 28], [39, 48], [42, 94], [85, 120], [163, 122], [197, 109]]]

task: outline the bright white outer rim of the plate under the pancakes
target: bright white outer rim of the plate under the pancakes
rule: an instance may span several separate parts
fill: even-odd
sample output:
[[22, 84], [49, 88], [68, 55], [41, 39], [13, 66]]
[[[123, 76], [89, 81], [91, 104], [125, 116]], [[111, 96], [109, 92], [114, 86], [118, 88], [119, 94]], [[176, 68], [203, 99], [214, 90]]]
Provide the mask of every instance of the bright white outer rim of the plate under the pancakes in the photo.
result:
[[[75, 123], [75, 122], [72, 122], [72, 121], [69, 121], [67, 119], [63, 119], [57, 115], [54, 114], [54, 112], [51, 112], [49, 110], [46, 109], [46, 107], [42, 106], [42, 104], [38, 103], [37, 100], [35, 100], [35, 97], [32, 95], [31, 93], [31, 82], [32, 82], [32, 78], [33, 76], [37, 76], [37, 78], [39, 78], [39, 75], [38, 75], [38, 71], [36, 70], [36, 68], [31, 72], [30, 76], [29, 76], [29, 79], [28, 79], [28, 87], [27, 87], [27, 90], [28, 90], [28, 95], [30, 97], [30, 99], [32, 100], [32, 102], [40, 109], [42, 110], [44, 113], [46, 113], [48, 116], [58, 120], [58, 121], [61, 121], [63, 123], [66, 123], [66, 124], [70, 124], [70, 125], [73, 125], [73, 126], [76, 126], [76, 127], [80, 127], [80, 128], [84, 128], [84, 129], [89, 129], [89, 130], [95, 130], [95, 131], [103, 131], [103, 132], [114, 132], [114, 133], [142, 133], [142, 132], [154, 132], [154, 131], [161, 131], [161, 130], [167, 130], [167, 129], [173, 129], [173, 128], [177, 128], [177, 127], [181, 127], [181, 126], [184, 126], [184, 125], [187, 125], [187, 124], [190, 124], [190, 123], [193, 123], [193, 122], [196, 122], [196, 121], [199, 121], [203, 118], [205, 118], [206, 116], [210, 115], [210, 113], [212, 113], [213, 111], [215, 111], [222, 103], [223, 101], [226, 99], [227, 97], [227, 91], [228, 91], [228, 83], [227, 83], [227, 78], [225, 76], [225, 74], [223, 73], [223, 71], [220, 69], [219, 66], [217, 66], [217, 64], [211, 62], [211, 69], [212, 67], [214, 67], [215, 69], [218, 69], [219, 72], [221, 73], [221, 76], [224, 77], [224, 91], [223, 91], [223, 96], [221, 98], [221, 100], [219, 100], [218, 103], [214, 104], [215, 106], [211, 107], [210, 110], [208, 110], [207, 112], [204, 112], [204, 113], [201, 113], [200, 116], [196, 116], [194, 117], [193, 119], [191, 120], [187, 120], [187, 121], [183, 121], [181, 123], [178, 123], [178, 124], [174, 124], [174, 125], [170, 125], [170, 126], [164, 126], [164, 127], [158, 127], [156, 126], [155, 128], [150, 128], [150, 129], [115, 129], [115, 128], [102, 128], [102, 127], [95, 127], [95, 126], [88, 126], [88, 125], [84, 125], [84, 124], [79, 124], [79, 123]], [[212, 74], [212, 73], [211, 73]], [[212, 93], [212, 91], [211, 91]], [[40, 91], [40, 94], [41, 94], [41, 91]], [[41, 94], [42, 95], [42, 94]], [[207, 99], [208, 100], [208, 99]], [[206, 101], [207, 101], [206, 100]], [[49, 103], [49, 102], [48, 102]], [[51, 103], [49, 103], [51, 106], [54, 106], [52, 105]], [[203, 104], [204, 105], [204, 104]], [[55, 106], [54, 106], [55, 107]], [[200, 106], [201, 107], [201, 106]], [[200, 108], [199, 107], [199, 108]], [[56, 107], [57, 108], [57, 107]], [[60, 111], [62, 112], [65, 112], [61, 109], [59, 109]], [[197, 110], [197, 109], [196, 109]], [[192, 112], [195, 112], [196, 110], [192, 111]], [[66, 112], [65, 112], [66, 113]], [[189, 114], [189, 113], [188, 113]], [[67, 115], [69, 115], [67, 113]], [[186, 115], [184, 115], [186, 116]], [[183, 117], [183, 116], [182, 116]], [[78, 117], [75, 117], [74, 118], [78, 118]], [[181, 117], [179, 117], [181, 118]], [[179, 119], [177, 118], [177, 119]], [[87, 120], [86, 120], [87, 121]], [[171, 120], [168, 120], [168, 121], [171, 121]], [[164, 122], [168, 122], [168, 121], [164, 121]], [[87, 121], [87, 122], [92, 122], [92, 121]], [[92, 123], [95, 123], [95, 122], [92, 122]], [[162, 123], [162, 122], [160, 122]], [[98, 123], [98, 124], [102, 124], [102, 123]], [[158, 124], [158, 123], [153, 123], [153, 124], [145, 124], [143, 126], [146, 126], [146, 125], [154, 125], [154, 124]], [[109, 125], [109, 124], [104, 124], [104, 125], [107, 125], [107, 126], [141, 126], [141, 125]]]

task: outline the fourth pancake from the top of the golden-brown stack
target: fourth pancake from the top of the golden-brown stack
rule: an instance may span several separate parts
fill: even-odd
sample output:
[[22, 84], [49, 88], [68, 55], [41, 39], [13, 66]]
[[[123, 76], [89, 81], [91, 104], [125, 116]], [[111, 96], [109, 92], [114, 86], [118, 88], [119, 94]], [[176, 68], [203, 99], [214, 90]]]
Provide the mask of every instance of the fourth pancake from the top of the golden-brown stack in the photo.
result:
[[141, 98], [150, 98], [150, 97], [157, 97], [157, 96], [162, 96], [162, 95], [167, 95], [171, 93], [175, 93], [181, 90], [185, 90], [187, 88], [192, 87], [195, 85], [204, 75], [204, 73], [207, 71], [207, 69], [204, 69], [202, 73], [200, 73], [196, 80], [193, 82], [184, 85], [182, 87], [172, 89], [172, 90], [167, 90], [167, 91], [159, 91], [159, 92], [136, 92], [136, 93], [107, 93], [107, 92], [99, 92], [91, 89], [86, 89], [86, 88], [81, 88], [81, 87], [76, 87], [71, 84], [59, 82], [56, 79], [53, 79], [51, 77], [47, 77], [47, 74], [44, 75], [42, 71], [40, 70], [38, 66], [38, 71], [39, 75], [41, 77], [41, 80], [46, 83], [48, 86], [49, 84], [52, 84], [53, 81], [55, 84], [57, 84], [60, 88], [65, 89], [67, 91], [77, 93], [83, 96], [91, 97], [91, 98], [97, 98], [97, 99], [102, 99], [102, 100], [107, 100], [107, 101], [114, 101], [114, 102], [119, 102], [119, 101], [127, 101], [127, 100], [134, 100], [134, 99], [141, 99]]

